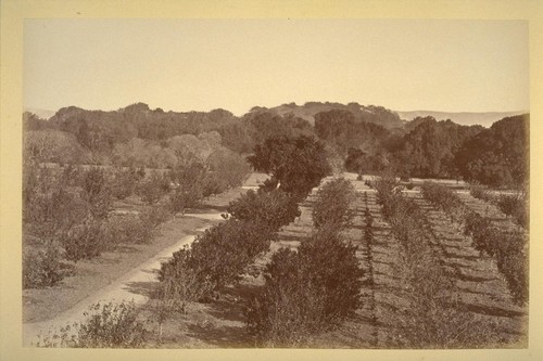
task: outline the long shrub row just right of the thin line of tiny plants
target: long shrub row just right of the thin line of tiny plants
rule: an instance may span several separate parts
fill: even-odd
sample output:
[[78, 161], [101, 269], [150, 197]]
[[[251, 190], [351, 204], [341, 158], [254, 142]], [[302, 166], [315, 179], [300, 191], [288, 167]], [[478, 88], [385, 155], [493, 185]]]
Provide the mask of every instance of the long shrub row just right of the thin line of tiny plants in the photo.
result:
[[431, 225], [413, 199], [401, 194], [383, 197], [387, 219], [401, 242], [397, 274], [408, 307], [399, 313], [401, 339], [412, 348], [453, 348], [492, 345], [495, 325], [481, 323], [456, 304], [452, 280], [439, 260]]

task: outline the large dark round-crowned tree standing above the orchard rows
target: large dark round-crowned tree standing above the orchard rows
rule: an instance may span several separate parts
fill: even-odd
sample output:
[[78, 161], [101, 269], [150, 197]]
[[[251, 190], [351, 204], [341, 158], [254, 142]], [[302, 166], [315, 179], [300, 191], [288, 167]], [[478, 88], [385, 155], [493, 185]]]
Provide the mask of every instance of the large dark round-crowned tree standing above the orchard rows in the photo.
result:
[[301, 198], [331, 170], [324, 144], [306, 136], [268, 138], [248, 160], [255, 170], [270, 173], [270, 182]]

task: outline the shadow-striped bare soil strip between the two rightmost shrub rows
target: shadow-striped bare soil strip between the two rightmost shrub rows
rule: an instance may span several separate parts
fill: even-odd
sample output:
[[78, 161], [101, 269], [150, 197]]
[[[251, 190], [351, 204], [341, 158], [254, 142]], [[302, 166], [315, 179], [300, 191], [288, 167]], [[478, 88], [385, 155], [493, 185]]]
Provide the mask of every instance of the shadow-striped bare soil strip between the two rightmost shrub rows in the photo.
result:
[[435, 209], [420, 193], [407, 196], [415, 199], [427, 216], [441, 262], [454, 281], [458, 307], [480, 321], [483, 328], [484, 325], [494, 328], [491, 331], [496, 332], [500, 347], [526, 347], [527, 311], [513, 301], [495, 261], [479, 255], [471, 240], [462, 234], [460, 225]]

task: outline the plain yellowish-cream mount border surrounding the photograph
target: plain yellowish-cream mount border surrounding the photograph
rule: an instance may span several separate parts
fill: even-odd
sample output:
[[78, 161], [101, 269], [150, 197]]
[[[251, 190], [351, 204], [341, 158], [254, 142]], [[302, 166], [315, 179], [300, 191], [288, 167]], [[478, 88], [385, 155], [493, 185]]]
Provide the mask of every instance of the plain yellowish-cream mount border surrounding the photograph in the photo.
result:
[[[0, 360], [541, 360], [543, 246], [541, 169], [543, 132], [543, 1], [101, 1], [2, 0], [0, 103]], [[23, 24], [25, 18], [470, 18], [527, 20], [530, 31], [530, 302], [529, 347], [513, 350], [357, 350], [357, 349], [42, 349], [22, 347], [22, 113]], [[386, 105], [386, 104], [383, 104]]]

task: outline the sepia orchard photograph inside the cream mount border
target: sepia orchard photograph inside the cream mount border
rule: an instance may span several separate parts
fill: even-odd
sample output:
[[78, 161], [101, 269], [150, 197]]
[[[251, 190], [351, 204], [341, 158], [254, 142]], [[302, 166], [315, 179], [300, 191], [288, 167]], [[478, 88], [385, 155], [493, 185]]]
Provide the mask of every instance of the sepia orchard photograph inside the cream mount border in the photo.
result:
[[24, 349], [529, 348], [528, 20], [22, 36]]

